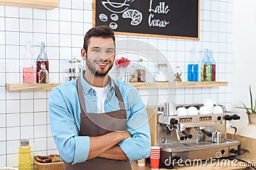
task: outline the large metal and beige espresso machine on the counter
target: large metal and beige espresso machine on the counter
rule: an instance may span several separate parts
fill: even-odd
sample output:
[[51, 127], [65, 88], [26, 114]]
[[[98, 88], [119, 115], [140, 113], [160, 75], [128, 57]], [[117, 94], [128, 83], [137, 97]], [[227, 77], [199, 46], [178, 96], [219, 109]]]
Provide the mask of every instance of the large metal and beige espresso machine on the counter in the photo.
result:
[[[161, 166], [172, 169], [179, 160], [206, 160], [240, 154], [240, 141], [226, 138], [226, 122], [240, 117], [226, 111], [204, 115], [175, 115], [178, 108], [203, 104], [157, 106], [157, 146], [161, 148]], [[219, 105], [220, 106], [220, 105]], [[168, 113], [166, 113], [168, 112]], [[172, 112], [172, 113], [171, 113]]]

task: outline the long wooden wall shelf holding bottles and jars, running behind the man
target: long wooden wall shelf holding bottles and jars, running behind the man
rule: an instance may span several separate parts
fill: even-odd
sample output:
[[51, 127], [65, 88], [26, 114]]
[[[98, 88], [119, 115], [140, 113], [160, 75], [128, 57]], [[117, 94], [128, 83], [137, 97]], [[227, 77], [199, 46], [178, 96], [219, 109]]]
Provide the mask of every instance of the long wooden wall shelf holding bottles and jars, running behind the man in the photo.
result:
[[[220, 87], [227, 86], [226, 81], [198, 81], [198, 82], [152, 82], [152, 83], [128, 83], [136, 89], [153, 89], [153, 88], [193, 88], [193, 87]], [[52, 90], [60, 83], [21, 83], [21, 84], [6, 84], [6, 90], [9, 91], [28, 91], [28, 90]]]

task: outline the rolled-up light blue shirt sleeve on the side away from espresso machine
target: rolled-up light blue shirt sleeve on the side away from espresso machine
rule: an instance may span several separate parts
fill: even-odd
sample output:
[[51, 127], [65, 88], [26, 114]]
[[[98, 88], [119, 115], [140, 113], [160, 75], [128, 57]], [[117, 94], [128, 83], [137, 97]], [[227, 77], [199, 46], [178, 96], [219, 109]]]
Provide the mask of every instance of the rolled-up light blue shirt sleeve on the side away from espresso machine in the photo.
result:
[[70, 104], [57, 88], [49, 96], [49, 117], [55, 144], [63, 162], [76, 164], [86, 161], [90, 150], [90, 138], [78, 136], [74, 113]]

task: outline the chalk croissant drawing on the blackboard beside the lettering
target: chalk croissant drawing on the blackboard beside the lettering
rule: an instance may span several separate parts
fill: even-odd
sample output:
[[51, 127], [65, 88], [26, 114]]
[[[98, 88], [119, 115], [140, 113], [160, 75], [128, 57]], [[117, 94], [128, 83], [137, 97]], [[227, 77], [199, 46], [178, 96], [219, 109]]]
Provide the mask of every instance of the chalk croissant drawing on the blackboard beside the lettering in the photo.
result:
[[131, 18], [131, 25], [139, 25], [142, 21], [142, 13], [138, 10], [127, 10], [122, 15], [123, 18]]

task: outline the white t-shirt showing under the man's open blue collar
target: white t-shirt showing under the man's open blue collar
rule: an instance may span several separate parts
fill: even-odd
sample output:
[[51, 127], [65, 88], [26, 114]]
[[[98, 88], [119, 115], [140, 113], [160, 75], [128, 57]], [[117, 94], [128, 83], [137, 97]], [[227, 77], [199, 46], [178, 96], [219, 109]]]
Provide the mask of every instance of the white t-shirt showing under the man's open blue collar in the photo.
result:
[[97, 97], [97, 104], [98, 104], [98, 113], [105, 113], [104, 109], [104, 102], [106, 101], [108, 91], [110, 89], [110, 83], [106, 85], [105, 87], [93, 87], [92, 89], [95, 90], [96, 92], [96, 97]]

